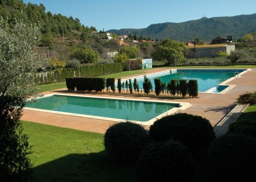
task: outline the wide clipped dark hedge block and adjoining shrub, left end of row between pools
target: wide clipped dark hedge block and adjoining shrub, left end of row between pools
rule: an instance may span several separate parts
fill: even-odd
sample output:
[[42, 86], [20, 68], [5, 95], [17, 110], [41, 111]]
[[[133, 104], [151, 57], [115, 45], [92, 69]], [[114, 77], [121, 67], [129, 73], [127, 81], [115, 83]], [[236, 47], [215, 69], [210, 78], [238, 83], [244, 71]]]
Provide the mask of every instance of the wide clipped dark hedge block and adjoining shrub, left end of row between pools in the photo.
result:
[[[115, 84], [113, 81], [114, 78], [108, 79], [109, 81]], [[75, 88], [77, 91], [102, 91], [106, 86], [106, 78], [95, 78], [95, 77], [69, 77], [66, 78], [66, 85], [69, 91], [74, 91]], [[112, 91], [115, 92], [115, 86], [109, 85]]]

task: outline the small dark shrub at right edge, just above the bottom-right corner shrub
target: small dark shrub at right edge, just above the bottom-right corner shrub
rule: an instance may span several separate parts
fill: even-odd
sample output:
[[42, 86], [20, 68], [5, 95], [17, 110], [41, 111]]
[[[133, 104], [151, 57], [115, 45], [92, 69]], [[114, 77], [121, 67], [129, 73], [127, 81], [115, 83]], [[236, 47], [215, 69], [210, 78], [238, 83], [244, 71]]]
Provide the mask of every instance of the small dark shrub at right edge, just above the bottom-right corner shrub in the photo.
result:
[[256, 137], [256, 121], [249, 119], [235, 121], [229, 125], [228, 133], [241, 133]]

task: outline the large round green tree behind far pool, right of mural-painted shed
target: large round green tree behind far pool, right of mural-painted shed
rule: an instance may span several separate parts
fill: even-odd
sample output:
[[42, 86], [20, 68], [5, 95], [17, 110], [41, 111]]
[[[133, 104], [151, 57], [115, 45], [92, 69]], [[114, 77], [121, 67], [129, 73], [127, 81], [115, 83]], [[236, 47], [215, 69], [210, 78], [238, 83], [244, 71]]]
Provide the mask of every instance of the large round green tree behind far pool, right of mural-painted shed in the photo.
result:
[[177, 42], [172, 39], [165, 39], [159, 46], [157, 46], [156, 51], [153, 53], [153, 58], [157, 60], [166, 59], [169, 64], [174, 63], [174, 59], [177, 62], [184, 60], [183, 51], [187, 49], [184, 42]]

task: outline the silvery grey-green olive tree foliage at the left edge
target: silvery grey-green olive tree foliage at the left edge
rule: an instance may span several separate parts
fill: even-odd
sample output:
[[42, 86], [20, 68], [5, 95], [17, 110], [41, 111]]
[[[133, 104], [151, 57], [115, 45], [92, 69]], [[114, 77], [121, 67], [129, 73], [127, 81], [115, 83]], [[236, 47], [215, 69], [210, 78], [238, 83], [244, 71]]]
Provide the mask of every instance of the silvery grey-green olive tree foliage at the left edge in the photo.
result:
[[41, 38], [40, 26], [27, 26], [20, 20], [10, 30], [1, 19], [0, 35], [0, 96], [36, 98], [39, 91], [34, 86], [34, 77], [28, 73], [48, 65], [45, 57], [32, 52]]

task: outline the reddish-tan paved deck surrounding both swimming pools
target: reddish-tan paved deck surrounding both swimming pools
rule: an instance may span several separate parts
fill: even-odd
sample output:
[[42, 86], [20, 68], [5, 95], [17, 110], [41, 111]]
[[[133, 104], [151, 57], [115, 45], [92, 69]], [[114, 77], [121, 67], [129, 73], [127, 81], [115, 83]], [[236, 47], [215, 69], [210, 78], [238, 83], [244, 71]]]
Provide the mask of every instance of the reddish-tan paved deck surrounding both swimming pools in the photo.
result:
[[[146, 70], [147, 74], [152, 74], [160, 71], [171, 70], [172, 68], [157, 68]], [[121, 74], [120, 74], [121, 75]], [[140, 76], [138, 74], [136, 76]], [[121, 77], [121, 79], [128, 79], [127, 76]], [[229, 90], [225, 94], [211, 94], [211, 93], [198, 93], [198, 98], [181, 98], [173, 96], [141, 96], [130, 94], [113, 94], [113, 93], [94, 93], [94, 92], [77, 92], [68, 91], [67, 88], [57, 89], [53, 91], [43, 92], [47, 94], [72, 94], [80, 96], [104, 96], [104, 97], [119, 97], [129, 99], [143, 99], [143, 100], [155, 100], [155, 101], [175, 101], [175, 102], [189, 102], [192, 106], [188, 107], [184, 111], [188, 114], [198, 115], [207, 118], [214, 127], [214, 130], [219, 133], [224, 133], [227, 130], [227, 123], [234, 121], [245, 109], [244, 106], [237, 106], [236, 98], [246, 91], [256, 91], [256, 68], [247, 71], [245, 74], [238, 78], [235, 78], [227, 83], [227, 85], [235, 85], [234, 88]], [[236, 106], [236, 108], [235, 108]], [[235, 110], [233, 110], [235, 108]], [[242, 108], [242, 109], [240, 109]], [[231, 111], [231, 112], [230, 112]], [[230, 114], [231, 113], [231, 114]], [[236, 113], [236, 114], [232, 114]], [[233, 117], [230, 121], [230, 116]], [[229, 119], [229, 120], [228, 120]], [[43, 123], [53, 126], [67, 127], [83, 131], [92, 131], [98, 133], [104, 133], [106, 129], [113, 123], [113, 121], [98, 120], [77, 116], [66, 116], [60, 114], [46, 113], [40, 111], [23, 110], [23, 116], [21, 120], [32, 121], [37, 123]], [[149, 126], [144, 126], [145, 129], [149, 129]]]

